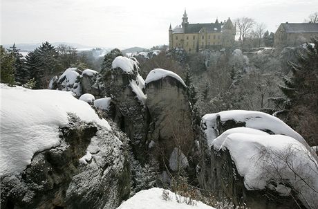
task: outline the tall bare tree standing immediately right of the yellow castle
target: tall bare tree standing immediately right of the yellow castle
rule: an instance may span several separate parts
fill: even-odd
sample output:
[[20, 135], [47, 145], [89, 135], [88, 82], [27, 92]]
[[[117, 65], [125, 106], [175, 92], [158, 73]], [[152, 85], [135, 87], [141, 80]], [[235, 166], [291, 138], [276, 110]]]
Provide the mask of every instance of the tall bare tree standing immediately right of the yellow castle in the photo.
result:
[[242, 48], [244, 47], [246, 38], [252, 32], [252, 28], [255, 24], [254, 19], [250, 17], [240, 17], [235, 20], [236, 26], [238, 28], [238, 33], [240, 34], [240, 41]]

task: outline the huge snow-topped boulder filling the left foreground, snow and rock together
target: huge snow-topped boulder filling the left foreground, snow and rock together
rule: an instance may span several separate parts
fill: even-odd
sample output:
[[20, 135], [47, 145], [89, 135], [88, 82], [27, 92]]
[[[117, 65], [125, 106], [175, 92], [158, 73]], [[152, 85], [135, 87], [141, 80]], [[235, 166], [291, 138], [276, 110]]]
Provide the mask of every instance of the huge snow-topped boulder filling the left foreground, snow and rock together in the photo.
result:
[[116, 208], [129, 195], [122, 132], [70, 92], [1, 87], [1, 208]]

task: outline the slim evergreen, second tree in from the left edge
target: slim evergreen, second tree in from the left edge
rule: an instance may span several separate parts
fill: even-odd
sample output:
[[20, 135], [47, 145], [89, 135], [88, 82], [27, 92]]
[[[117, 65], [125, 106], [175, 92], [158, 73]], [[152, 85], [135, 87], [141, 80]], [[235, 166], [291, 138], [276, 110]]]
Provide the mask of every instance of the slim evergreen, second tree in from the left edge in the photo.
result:
[[19, 84], [25, 84], [28, 82], [29, 74], [25, 68], [24, 57], [19, 53], [15, 44], [8, 51], [15, 57], [15, 81]]

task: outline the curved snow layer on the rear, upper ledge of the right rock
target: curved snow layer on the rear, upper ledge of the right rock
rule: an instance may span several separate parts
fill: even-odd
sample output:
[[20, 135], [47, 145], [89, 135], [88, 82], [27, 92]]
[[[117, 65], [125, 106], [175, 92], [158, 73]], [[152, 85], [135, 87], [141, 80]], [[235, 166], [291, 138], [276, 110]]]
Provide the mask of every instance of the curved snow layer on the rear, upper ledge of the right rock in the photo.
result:
[[298, 140], [300, 143], [303, 143], [304, 145], [306, 144], [306, 141], [300, 134], [286, 125], [285, 122], [279, 120], [279, 118], [259, 111], [245, 110], [221, 111], [219, 113], [210, 113], [203, 116], [203, 124], [207, 126], [205, 134], [207, 135], [208, 140], [214, 140], [218, 136], [216, 131], [216, 118], [218, 116], [220, 116], [221, 122], [225, 122], [226, 120], [245, 122], [245, 127], [259, 130], [270, 130], [274, 134], [290, 136]]

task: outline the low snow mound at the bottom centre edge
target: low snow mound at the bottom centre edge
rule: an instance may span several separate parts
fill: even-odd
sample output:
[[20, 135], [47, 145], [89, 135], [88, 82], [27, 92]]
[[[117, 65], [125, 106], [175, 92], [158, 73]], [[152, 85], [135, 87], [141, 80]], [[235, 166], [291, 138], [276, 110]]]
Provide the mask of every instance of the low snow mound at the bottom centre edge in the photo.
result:
[[[170, 199], [165, 200], [162, 198], [162, 191], [167, 192]], [[187, 205], [186, 203], [178, 203], [176, 201], [176, 196], [174, 192], [169, 190], [163, 190], [160, 188], [151, 188], [149, 190], [142, 190], [136, 193], [133, 197], [124, 201], [118, 209], [214, 209], [211, 206], [207, 206], [200, 201], [196, 201], [195, 206]], [[178, 196], [180, 199], [183, 197]]]

